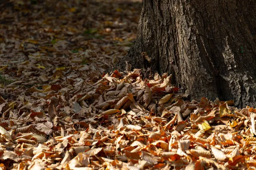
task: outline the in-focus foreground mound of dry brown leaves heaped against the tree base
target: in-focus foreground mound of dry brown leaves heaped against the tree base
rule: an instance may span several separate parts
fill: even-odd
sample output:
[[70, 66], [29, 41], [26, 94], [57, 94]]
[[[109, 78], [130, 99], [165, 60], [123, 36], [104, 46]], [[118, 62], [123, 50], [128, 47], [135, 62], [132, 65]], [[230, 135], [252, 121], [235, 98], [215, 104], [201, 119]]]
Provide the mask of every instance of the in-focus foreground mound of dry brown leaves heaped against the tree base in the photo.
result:
[[32, 87], [13, 102], [0, 99], [2, 169], [255, 166], [255, 109], [186, 101], [172, 75], [91, 74], [88, 81]]

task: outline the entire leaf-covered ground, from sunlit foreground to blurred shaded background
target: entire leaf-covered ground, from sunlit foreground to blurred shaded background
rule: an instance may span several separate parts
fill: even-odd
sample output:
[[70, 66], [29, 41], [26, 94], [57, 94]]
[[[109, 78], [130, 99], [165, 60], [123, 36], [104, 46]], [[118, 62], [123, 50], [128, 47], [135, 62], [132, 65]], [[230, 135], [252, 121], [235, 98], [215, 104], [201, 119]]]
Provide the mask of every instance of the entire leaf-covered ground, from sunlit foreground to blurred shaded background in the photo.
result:
[[255, 169], [256, 110], [188, 101], [168, 74], [102, 73], [136, 37], [141, 4], [0, 4], [0, 168]]

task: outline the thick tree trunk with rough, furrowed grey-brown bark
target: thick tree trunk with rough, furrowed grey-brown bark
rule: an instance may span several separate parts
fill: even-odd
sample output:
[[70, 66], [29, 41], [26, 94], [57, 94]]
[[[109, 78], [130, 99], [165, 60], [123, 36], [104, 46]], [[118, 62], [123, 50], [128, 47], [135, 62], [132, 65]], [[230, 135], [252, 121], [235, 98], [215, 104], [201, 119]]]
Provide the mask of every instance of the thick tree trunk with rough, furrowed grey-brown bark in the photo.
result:
[[125, 61], [173, 74], [192, 99], [253, 106], [256, 0], [143, 0], [137, 40], [120, 65]]

